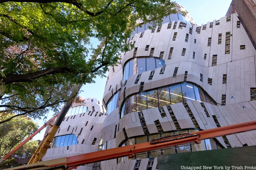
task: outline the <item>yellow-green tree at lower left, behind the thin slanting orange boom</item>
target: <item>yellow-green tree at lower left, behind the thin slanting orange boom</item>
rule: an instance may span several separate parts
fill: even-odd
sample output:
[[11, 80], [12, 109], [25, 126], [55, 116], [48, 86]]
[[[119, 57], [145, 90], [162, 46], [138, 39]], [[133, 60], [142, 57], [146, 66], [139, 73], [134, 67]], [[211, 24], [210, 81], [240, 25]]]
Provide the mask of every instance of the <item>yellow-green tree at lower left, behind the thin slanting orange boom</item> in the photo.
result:
[[[0, 118], [7, 119], [13, 114], [0, 113]], [[28, 116], [19, 116], [0, 125], [0, 158], [4, 157], [14, 147], [16, 147], [25, 138], [29, 137], [37, 129], [37, 123], [33, 122]], [[33, 142], [23, 146], [23, 152], [28, 153], [30, 148], [35, 148]]]

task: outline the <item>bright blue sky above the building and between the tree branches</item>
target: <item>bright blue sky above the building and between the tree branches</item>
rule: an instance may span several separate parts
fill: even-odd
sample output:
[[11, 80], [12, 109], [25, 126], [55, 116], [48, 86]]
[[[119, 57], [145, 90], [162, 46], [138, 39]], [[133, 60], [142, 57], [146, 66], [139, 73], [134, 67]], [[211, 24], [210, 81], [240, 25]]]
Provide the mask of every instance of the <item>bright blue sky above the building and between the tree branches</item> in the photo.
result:
[[[232, 0], [176, 0], [176, 3], [181, 4], [191, 17], [194, 19], [197, 25], [201, 26], [202, 24], [206, 24], [209, 21], [213, 21], [214, 19], [220, 19], [224, 17], [227, 13], [228, 7]], [[100, 41], [95, 38], [91, 39], [91, 43], [94, 48], [96, 48]], [[94, 84], [86, 84], [83, 85], [81, 90], [83, 92], [80, 93], [80, 96], [84, 98], [92, 97], [98, 100], [102, 100], [104, 88], [106, 84], [106, 78], [95, 78]], [[48, 119], [52, 117], [52, 113], [48, 114]], [[43, 120], [35, 120], [39, 127], [44, 124]], [[37, 134], [33, 140], [42, 140], [44, 136], [44, 130], [41, 133]]]

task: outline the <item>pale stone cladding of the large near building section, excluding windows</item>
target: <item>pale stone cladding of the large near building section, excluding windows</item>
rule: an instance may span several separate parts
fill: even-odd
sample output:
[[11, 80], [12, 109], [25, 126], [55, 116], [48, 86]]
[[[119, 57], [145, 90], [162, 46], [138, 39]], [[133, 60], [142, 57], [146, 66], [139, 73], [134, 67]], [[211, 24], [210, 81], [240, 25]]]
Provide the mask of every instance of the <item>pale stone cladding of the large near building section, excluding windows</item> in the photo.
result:
[[[255, 79], [255, 55], [256, 50], [252, 45], [244, 27], [237, 28], [239, 21], [237, 14], [231, 15], [230, 22], [227, 22], [227, 16], [220, 18], [220, 24], [215, 25], [216, 20], [213, 20], [212, 28], [210, 23], [203, 30], [201, 26], [200, 33], [196, 32], [196, 25], [193, 26], [192, 34], [189, 33], [190, 25], [179, 28], [178, 21], [176, 29], [167, 29], [168, 23], [161, 27], [160, 32], [151, 33], [151, 30], [146, 30], [143, 37], [141, 33], [134, 35], [130, 42], [135, 42], [137, 48], [136, 57], [148, 56], [151, 48], [155, 48], [154, 57], [159, 57], [160, 52], [164, 51], [163, 59], [165, 61], [164, 74], [159, 74], [161, 68], [155, 70], [154, 76], [149, 80], [151, 70], [141, 73], [139, 82], [134, 84], [138, 74], [132, 75], [127, 79], [124, 85], [123, 68], [127, 61], [133, 58], [134, 49], [121, 54], [121, 64], [110, 68], [108, 81], [106, 83], [103, 96], [103, 103], [106, 106], [108, 101], [113, 96], [113, 93], [119, 92], [118, 107], [112, 111], [103, 123], [101, 130], [103, 143], [108, 142], [108, 148], [120, 146], [127, 138], [145, 135], [138, 112], [128, 113], [120, 118], [120, 111], [124, 100], [132, 94], [140, 92], [140, 82], [144, 82], [143, 91], [172, 85], [184, 81], [185, 71], [188, 71], [187, 82], [196, 84], [216, 101], [217, 105], [212, 105], [204, 102], [205, 109], [210, 117], [207, 117], [203, 107], [198, 101], [188, 101], [193, 116], [195, 117], [200, 129], [216, 128], [216, 123], [212, 115], [216, 116], [220, 126], [232, 125], [256, 120], [256, 100], [251, 101], [250, 88], [256, 87]], [[177, 33], [175, 41], [172, 41], [174, 33]], [[226, 33], [230, 32], [230, 54], [225, 54]], [[222, 34], [221, 44], [218, 44], [218, 35]], [[188, 34], [188, 42], [185, 42], [186, 34]], [[207, 46], [208, 38], [212, 38], [211, 46]], [[196, 43], [194, 40], [196, 39]], [[145, 51], [146, 45], [149, 45], [149, 50]], [[245, 45], [245, 49], [240, 50], [240, 46]], [[173, 48], [172, 57], [168, 59], [170, 48]], [[186, 53], [181, 56], [182, 49], [186, 48]], [[195, 58], [193, 59], [193, 52]], [[204, 59], [206, 54], [206, 59]], [[212, 66], [213, 55], [217, 55], [217, 64]], [[173, 78], [175, 67], [178, 67], [176, 78]], [[203, 81], [200, 81], [200, 74], [203, 75]], [[227, 82], [223, 84], [223, 74], [227, 74]], [[208, 84], [208, 78], [212, 79], [212, 85]], [[110, 87], [111, 86], [111, 87]], [[117, 86], [117, 88], [116, 88]], [[125, 96], [124, 96], [125, 90]], [[221, 105], [222, 95], [226, 95], [226, 105]], [[195, 128], [188, 112], [182, 103], [170, 105], [181, 129]], [[142, 110], [149, 134], [157, 133], [157, 128], [154, 121], [159, 120], [163, 131], [176, 130], [172, 121], [171, 115], [166, 106], [163, 107], [166, 117], [162, 118], [159, 109], [151, 108]], [[115, 127], [118, 127], [115, 132]], [[125, 138], [123, 128], [127, 133]], [[256, 145], [256, 131], [244, 132], [235, 135], [226, 136], [231, 147], [240, 147], [245, 145]], [[226, 147], [222, 137], [217, 137], [217, 141]], [[149, 159], [142, 159], [139, 170], [146, 170]], [[116, 159], [102, 161], [102, 170], [111, 169], [127, 169], [133, 170], [136, 160], [126, 160], [117, 164]], [[154, 168], [156, 169], [157, 158], [154, 159]]]

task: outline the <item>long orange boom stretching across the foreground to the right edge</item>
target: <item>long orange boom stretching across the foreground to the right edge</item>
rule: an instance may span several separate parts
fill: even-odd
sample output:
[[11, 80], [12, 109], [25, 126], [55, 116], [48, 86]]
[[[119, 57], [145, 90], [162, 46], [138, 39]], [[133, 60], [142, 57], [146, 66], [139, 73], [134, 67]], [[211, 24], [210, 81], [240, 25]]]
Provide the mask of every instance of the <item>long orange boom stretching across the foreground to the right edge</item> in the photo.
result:
[[[225, 135], [232, 135], [235, 133], [246, 132], [250, 130], [256, 130], [256, 121], [238, 123], [229, 126], [223, 126], [220, 128], [208, 129], [197, 131], [193, 133], [180, 133], [175, 135], [169, 135], [152, 139], [150, 142], [141, 144], [134, 144], [128, 146], [122, 146], [97, 152], [85, 153], [81, 155], [64, 157], [59, 159], [53, 159], [50, 161], [38, 162], [30, 165], [24, 165], [19, 167], [10, 168], [13, 169], [66, 169], [68, 170], [76, 168], [77, 166], [90, 164], [94, 162], [100, 162], [103, 160], [115, 159], [128, 156], [132, 158], [137, 153], [153, 151], [166, 147], [184, 145], [188, 143], [200, 143], [201, 140], [220, 137]], [[53, 163], [53, 164], [52, 164]]]

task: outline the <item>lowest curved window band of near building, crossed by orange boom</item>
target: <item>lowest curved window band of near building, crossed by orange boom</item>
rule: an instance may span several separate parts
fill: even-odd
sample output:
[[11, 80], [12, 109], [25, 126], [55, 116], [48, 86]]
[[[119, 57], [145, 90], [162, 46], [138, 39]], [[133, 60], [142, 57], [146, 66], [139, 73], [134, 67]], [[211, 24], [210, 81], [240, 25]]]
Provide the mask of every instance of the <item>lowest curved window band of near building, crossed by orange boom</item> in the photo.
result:
[[[133, 144], [141, 144], [144, 142], [150, 142], [151, 139], [158, 138], [158, 137], [163, 137], [167, 135], [174, 135], [182, 132], [196, 132], [198, 129], [188, 129], [188, 130], [179, 130], [179, 131], [172, 131], [172, 132], [164, 132], [160, 134], [154, 134], [154, 135], [147, 135], [147, 136], [142, 136], [142, 137], [133, 137], [130, 138], [126, 141], [124, 141], [121, 146], [126, 146], [126, 145], [133, 145]], [[195, 151], [205, 151], [205, 150], [212, 150], [211, 144], [210, 144], [210, 139], [202, 140], [200, 144], [196, 143], [191, 143], [191, 144], [186, 144], [186, 145], [179, 145], [179, 146], [172, 146], [169, 148], [164, 148], [156, 151], [149, 151], [149, 152], [143, 152], [136, 154], [135, 157], [132, 159], [144, 159], [144, 158], [155, 158], [160, 155], [167, 155], [167, 154], [172, 154], [172, 153], [181, 153], [181, 152], [195, 152]], [[122, 157], [118, 158], [118, 163], [123, 162], [125, 160], [130, 160], [128, 157]]]

